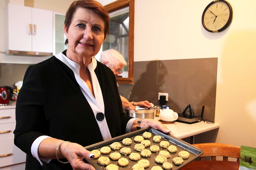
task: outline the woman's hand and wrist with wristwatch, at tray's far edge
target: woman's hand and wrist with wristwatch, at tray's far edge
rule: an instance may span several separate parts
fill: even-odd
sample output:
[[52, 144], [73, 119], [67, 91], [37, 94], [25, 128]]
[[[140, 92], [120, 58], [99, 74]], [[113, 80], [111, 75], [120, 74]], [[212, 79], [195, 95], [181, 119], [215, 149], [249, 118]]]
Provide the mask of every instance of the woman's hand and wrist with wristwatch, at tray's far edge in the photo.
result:
[[[136, 119], [131, 128], [131, 132], [137, 130], [139, 128], [146, 128], [146, 127], [152, 127], [153, 129], [156, 130], [161, 130], [164, 133], [168, 133], [170, 135], [173, 135], [173, 132], [171, 132], [164, 124], [161, 122], [155, 120], [155, 119], [142, 119], [142, 121], [139, 121], [140, 119]], [[174, 136], [174, 135], [173, 135]]]

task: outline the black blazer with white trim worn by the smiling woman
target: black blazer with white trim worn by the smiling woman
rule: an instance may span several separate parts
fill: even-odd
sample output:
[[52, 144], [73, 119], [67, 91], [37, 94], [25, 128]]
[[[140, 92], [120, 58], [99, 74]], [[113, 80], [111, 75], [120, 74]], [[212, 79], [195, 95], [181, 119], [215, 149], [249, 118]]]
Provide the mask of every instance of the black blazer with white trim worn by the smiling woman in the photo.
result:
[[[97, 61], [94, 70], [102, 90], [105, 119], [112, 137], [125, 134], [127, 122], [116, 85], [116, 77]], [[74, 73], [55, 56], [31, 65], [24, 76], [16, 102], [14, 143], [27, 153], [26, 169], [72, 169], [56, 160], [45, 166], [32, 157], [31, 145], [41, 135], [91, 145], [103, 140], [89, 103]]]

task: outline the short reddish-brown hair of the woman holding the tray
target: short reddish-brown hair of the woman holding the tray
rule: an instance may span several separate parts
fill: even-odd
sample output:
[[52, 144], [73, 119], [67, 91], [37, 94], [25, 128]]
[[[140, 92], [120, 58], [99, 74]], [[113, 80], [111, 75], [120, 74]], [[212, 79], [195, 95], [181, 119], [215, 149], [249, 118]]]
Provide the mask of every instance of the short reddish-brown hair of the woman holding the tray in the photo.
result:
[[[67, 10], [66, 18], [64, 22], [64, 25], [66, 25], [67, 32], [71, 24], [71, 21], [74, 17], [74, 14], [78, 8], [91, 9], [94, 12], [96, 12], [100, 17], [102, 17], [102, 19], [105, 22], [104, 35], [106, 37], [107, 34], [109, 33], [110, 17], [109, 17], [108, 11], [102, 6], [102, 4], [94, 0], [77, 0], [72, 2], [69, 9]], [[68, 44], [68, 39], [65, 42], [65, 45], [67, 44]]]

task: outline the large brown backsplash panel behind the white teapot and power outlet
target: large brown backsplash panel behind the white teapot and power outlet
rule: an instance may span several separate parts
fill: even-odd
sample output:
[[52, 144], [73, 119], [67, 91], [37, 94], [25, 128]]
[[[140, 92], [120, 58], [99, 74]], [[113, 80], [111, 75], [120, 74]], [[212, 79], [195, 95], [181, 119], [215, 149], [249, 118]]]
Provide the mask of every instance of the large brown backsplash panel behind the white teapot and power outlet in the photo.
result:
[[134, 62], [134, 85], [119, 84], [129, 101], [148, 100], [159, 104], [158, 92], [168, 93], [166, 105], [182, 113], [191, 105], [195, 115], [214, 121], [217, 58]]

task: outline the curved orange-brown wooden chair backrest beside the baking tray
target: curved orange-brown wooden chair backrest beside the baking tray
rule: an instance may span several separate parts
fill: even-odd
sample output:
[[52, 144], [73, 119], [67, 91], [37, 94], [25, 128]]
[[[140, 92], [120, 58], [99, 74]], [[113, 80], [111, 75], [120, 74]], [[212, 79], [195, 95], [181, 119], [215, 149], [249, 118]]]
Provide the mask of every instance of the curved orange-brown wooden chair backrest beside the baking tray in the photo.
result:
[[222, 143], [197, 143], [195, 147], [203, 150], [203, 155], [200, 156], [200, 161], [203, 161], [205, 156], [211, 156], [212, 161], [216, 161], [216, 156], [223, 156], [223, 161], [227, 161], [228, 157], [237, 158], [240, 161], [240, 147]]

